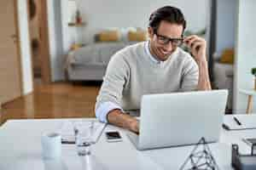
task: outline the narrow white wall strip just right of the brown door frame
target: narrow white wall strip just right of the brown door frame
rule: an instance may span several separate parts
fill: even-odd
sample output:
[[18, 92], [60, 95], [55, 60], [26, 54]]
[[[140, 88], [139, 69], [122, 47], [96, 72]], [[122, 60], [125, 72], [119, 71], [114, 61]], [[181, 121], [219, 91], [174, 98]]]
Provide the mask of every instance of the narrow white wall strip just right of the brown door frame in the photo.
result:
[[51, 80], [55, 82], [64, 79], [65, 57], [62, 49], [61, 0], [48, 0], [47, 5]]

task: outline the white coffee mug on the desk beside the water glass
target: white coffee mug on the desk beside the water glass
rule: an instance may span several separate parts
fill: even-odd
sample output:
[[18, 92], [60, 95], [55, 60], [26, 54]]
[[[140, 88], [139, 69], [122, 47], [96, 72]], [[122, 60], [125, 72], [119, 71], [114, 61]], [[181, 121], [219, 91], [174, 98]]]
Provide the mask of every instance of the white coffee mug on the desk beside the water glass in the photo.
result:
[[42, 156], [44, 159], [61, 157], [61, 134], [46, 133], [42, 135]]

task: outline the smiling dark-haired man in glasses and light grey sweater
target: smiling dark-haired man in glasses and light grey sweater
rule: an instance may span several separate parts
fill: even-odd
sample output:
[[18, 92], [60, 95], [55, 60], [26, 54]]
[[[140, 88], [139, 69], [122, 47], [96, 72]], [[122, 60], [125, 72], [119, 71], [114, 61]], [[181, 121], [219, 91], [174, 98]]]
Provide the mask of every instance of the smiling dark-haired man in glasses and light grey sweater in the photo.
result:
[[[96, 99], [96, 117], [101, 122], [138, 133], [139, 122], [125, 111], [138, 110], [143, 94], [211, 89], [206, 41], [195, 35], [183, 38], [185, 27], [180, 9], [159, 8], [149, 18], [149, 41], [113, 55]], [[182, 43], [194, 59], [178, 48]]]

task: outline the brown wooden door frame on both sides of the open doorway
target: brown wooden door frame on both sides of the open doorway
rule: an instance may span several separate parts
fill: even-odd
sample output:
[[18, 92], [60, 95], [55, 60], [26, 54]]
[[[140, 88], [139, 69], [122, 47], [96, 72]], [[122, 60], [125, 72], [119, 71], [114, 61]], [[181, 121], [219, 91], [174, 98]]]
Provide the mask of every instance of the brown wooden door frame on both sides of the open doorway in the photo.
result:
[[[27, 3], [27, 20], [29, 24], [29, 0], [26, 0]], [[51, 83], [51, 67], [50, 67], [50, 56], [49, 56], [49, 26], [48, 26], [48, 3], [47, 0], [39, 0], [39, 8], [41, 13], [38, 16], [39, 17], [39, 38], [40, 38], [40, 48], [39, 48], [39, 55], [41, 59], [41, 78], [42, 82], [44, 84]], [[31, 35], [31, 31], [29, 28], [29, 35]], [[30, 44], [30, 51], [32, 54], [32, 38], [29, 38], [29, 44]], [[42, 57], [44, 56], [44, 57]], [[33, 56], [32, 56], [33, 57]], [[33, 59], [32, 59], [33, 61]], [[32, 64], [33, 68], [33, 64]], [[32, 69], [33, 70], [33, 69]], [[34, 80], [34, 77], [32, 75], [32, 78]], [[35, 81], [33, 81], [35, 83]]]

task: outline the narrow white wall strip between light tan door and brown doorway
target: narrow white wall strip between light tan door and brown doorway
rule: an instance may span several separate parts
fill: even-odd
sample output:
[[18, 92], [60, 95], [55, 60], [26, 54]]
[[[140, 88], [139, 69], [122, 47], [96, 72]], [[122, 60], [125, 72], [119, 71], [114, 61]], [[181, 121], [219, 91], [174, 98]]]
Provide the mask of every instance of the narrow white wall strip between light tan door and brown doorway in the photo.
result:
[[23, 82], [23, 94], [32, 92], [32, 58], [29, 45], [26, 0], [18, 0], [18, 20], [20, 28], [20, 59]]

